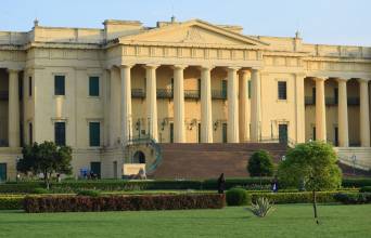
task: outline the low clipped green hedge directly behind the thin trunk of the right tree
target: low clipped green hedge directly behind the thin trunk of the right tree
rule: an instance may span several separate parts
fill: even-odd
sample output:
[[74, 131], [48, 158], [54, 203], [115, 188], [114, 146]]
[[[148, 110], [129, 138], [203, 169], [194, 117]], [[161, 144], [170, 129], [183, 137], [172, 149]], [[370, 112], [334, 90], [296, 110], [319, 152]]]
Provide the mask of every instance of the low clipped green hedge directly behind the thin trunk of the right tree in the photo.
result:
[[[317, 191], [317, 202], [335, 202], [334, 196], [337, 191]], [[358, 194], [358, 193], [347, 193]], [[299, 193], [253, 193], [252, 201], [256, 202], [259, 198], [264, 197], [269, 199], [276, 204], [284, 203], [310, 203], [312, 202], [311, 191], [299, 191]]]

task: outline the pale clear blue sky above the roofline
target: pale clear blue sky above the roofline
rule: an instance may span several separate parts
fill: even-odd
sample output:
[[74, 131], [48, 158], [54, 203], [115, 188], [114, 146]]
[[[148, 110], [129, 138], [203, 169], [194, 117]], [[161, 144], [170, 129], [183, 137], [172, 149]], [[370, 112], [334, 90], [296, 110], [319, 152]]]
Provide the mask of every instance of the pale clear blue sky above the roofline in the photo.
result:
[[244, 34], [293, 37], [308, 43], [371, 47], [370, 0], [1, 0], [0, 30], [42, 26], [102, 27], [106, 18], [139, 19], [146, 26], [202, 18], [235, 24]]

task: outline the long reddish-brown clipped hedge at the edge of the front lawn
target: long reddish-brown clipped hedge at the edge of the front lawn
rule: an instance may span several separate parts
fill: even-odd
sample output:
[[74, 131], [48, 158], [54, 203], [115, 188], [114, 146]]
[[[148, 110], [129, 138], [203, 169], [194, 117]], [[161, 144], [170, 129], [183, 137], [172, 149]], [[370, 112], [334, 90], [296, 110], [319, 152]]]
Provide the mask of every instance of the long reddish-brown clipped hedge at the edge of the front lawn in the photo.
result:
[[140, 210], [221, 209], [223, 195], [167, 195], [167, 196], [43, 196], [24, 199], [24, 210], [39, 212], [97, 212]]

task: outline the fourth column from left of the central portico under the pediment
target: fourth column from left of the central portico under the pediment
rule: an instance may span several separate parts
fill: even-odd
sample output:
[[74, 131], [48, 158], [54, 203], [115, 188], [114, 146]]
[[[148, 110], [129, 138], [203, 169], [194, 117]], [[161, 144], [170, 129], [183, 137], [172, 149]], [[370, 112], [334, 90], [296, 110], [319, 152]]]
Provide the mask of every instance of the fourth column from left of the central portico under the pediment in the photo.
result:
[[213, 143], [212, 68], [201, 68], [201, 142]]

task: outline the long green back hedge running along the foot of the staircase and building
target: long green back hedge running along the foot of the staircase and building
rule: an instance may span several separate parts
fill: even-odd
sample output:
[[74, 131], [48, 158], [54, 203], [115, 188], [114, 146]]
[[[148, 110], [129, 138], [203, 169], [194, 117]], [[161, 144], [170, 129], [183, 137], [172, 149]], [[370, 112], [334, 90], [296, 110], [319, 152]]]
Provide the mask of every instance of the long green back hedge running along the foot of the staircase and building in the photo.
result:
[[[227, 178], [226, 189], [242, 187], [247, 190], [270, 190], [271, 177], [246, 177]], [[371, 186], [371, 177], [344, 178], [343, 187]], [[21, 182], [0, 184], [0, 193], [33, 194], [36, 188], [42, 188], [41, 182]], [[76, 193], [81, 189], [99, 189], [102, 191], [113, 190], [184, 190], [184, 189], [217, 189], [216, 180], [205, 181], [124, 181], [124, 180], [102, 180], [102, 181], [64, 181], [52, 183], [53, 193]], [[279, 191], [282, 187], [280, 187]]]

